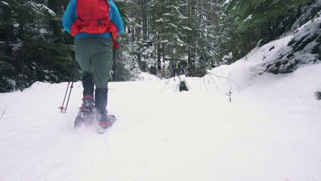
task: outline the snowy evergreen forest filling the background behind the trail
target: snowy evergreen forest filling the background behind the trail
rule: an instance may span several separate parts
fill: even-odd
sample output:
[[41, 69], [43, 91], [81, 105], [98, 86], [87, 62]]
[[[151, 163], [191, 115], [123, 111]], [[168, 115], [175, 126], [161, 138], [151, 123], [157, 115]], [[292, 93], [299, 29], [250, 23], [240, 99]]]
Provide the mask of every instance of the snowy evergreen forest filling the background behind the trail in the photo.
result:
[[[110, 81], [139, 80], [141, 72], [171, 77], [171, 61], [187, 76], [231, 64], [253, 48], [293, 33], [318, 15], [320, 0], [114, 0], [125, 23], [121, 48], [113, 51]], [[61, 21], [69, 0], [0, 1], [0, 93], [23, 90], [34, 82], [80, 80], [73, 37]], [[320, 3], [320, 2], [319, 2]], [[320, 29], [321, 27], [319, 27]], [[315, 57], [296, 58], [309, 43]], [[290, 73], [299, 64], [317, 62], [320, 34], [294, 39], [292, 51], [270, 73]], [[282, 65], [282, 66], [281, 66]]]

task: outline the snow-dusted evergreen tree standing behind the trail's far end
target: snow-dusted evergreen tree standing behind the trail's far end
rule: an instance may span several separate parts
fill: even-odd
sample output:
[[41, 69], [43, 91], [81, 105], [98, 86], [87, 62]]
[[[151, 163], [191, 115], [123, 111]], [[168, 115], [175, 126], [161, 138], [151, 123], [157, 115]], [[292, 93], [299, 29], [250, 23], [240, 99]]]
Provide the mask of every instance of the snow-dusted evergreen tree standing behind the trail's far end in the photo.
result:
[[155, 6], [155, 11], [158, 11], [154, 21], [158, 69], [160, 69], [160, 53], [169, 54], [171, 59], [175, 60], [187, 53], [187, 37], [191, 34], [191, 28], [188, 27], [186, 6], [185, 1], [160, 1]]

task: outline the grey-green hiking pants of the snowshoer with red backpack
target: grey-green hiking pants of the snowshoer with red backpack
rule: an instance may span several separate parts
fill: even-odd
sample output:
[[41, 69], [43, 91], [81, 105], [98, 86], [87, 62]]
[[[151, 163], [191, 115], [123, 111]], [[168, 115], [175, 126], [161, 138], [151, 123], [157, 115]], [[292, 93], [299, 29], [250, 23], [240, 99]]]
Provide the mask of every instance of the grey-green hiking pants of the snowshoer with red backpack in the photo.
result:
[[112, 46], [106, 38], [75, 39], [75, 60], [82, 75], [93, 74], [96, 88], [107, 88], [112, 69]]

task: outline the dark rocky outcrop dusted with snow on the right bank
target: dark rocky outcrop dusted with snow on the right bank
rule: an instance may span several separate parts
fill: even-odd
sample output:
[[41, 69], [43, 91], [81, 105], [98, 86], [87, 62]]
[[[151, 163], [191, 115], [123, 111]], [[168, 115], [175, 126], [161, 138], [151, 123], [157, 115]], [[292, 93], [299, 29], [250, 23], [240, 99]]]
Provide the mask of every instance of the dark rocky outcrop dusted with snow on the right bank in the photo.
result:
[[[269, 73], [290, 73], [296, 70], [301, 64], [313, 64], [321, 60], [321, 1], [315, 1], [305, 8], [305, 13], [294, 23], [294, 32], [287, 34], [292, 37], [283, 47], [278, 57], [267, 64], [265, 71]], [[316, 13], [317, 11], [317, 13]], [[314, 14], [316, 15], [313, 15]], [[312, 16], [312, 17], [311, 17]], [[300, 26], [304, 19], [311, 19]], [[295, 29], [298, 27], [297, 29]], [[284, 36], [285, 37], [285, 36]], [[284, 37], [282, 38], [284, 40]], [[288, 39], [288, 38], [286, 38]], [[270, 47], [270, 51], [274, 47]]]

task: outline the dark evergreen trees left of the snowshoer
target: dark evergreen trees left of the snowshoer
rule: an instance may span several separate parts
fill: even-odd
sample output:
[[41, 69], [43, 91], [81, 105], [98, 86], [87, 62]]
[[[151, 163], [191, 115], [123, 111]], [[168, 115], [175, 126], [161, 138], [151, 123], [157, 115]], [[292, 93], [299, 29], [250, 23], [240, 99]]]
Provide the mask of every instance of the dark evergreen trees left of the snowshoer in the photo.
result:
[[[1, 92], [23, 89], [36, 81], [61, 82], [69, 80], [73, 64], [73, 47], [56, 42], [61, 29], [52, 29], [51, 20], [59, 21], [46, 1], [1, 1], [0, 37]], [[8, 10], [10, 8], [10, 11]], [[11, 12], [11, 13], [10, 13]], [[59, 37], [62, 40], [62, 35]], [[10, 71], [8, 71], [10, 69]], [[3, 88], [2, 88], [3, 87]]]

